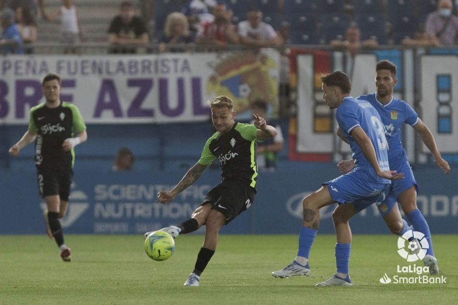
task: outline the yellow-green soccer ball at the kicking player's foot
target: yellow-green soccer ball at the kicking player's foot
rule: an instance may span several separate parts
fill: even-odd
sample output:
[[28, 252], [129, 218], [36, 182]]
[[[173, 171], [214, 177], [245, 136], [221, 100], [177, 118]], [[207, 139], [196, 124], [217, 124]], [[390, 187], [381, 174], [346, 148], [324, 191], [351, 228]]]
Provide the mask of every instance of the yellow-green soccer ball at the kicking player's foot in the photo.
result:
[[145, 252], [155, 261], [163, 261], [175, 251], [175, 240], [164, 231], [155, 231], [145, 239]]

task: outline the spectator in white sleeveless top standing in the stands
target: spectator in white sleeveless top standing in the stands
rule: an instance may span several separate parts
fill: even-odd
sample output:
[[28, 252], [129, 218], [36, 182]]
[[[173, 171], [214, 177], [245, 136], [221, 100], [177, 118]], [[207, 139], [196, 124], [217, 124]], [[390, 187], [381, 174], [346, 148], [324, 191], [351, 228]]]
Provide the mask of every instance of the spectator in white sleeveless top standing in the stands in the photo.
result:
[[[83, 39], [81, 22], [73, 0], [62, 0], [59, 11], [48, 17], [48, 20], [61, 25], [61, 42], [68, 45], [80, 43]], [[64, 53], [76, 53], [75, 48], [65, 48]]]

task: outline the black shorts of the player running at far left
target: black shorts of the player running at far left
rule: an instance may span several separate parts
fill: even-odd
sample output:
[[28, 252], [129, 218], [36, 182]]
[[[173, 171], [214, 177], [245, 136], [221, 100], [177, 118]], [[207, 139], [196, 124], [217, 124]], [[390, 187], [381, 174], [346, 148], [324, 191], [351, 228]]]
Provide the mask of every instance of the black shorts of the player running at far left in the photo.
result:
[[38, 191], [43, 198], [50, 195], [59, 195], [61, 200], [68, 201], [72, 185], [73, 170], [51, 169], [41, 165], [37, 167]]

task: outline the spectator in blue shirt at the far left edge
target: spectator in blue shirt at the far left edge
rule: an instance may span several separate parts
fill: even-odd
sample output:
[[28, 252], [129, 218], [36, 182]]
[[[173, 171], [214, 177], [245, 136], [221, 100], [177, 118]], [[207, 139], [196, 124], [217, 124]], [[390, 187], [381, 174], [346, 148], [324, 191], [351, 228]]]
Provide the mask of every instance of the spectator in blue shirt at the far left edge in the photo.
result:
[[23, 54], [22, 38], [19, 28], [14, 23], [14, 11], [11, 8], [4, 8], [0, 12], [0, 24], [3, 32], [0, 36], [0, 52], [2, 54]]

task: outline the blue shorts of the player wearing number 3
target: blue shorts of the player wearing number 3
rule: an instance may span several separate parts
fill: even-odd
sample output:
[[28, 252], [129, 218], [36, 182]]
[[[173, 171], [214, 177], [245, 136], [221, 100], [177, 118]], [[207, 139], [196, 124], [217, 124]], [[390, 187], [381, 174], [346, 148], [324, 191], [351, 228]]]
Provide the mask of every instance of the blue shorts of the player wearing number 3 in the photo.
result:
[[325, 182], [329, 194], [338, 204], [351, 203], [356, 212], [360, 212], [374, 202], [383, 201], [390, 189], [391, 184], [368, 182], [358, 172], [350, 172]]

